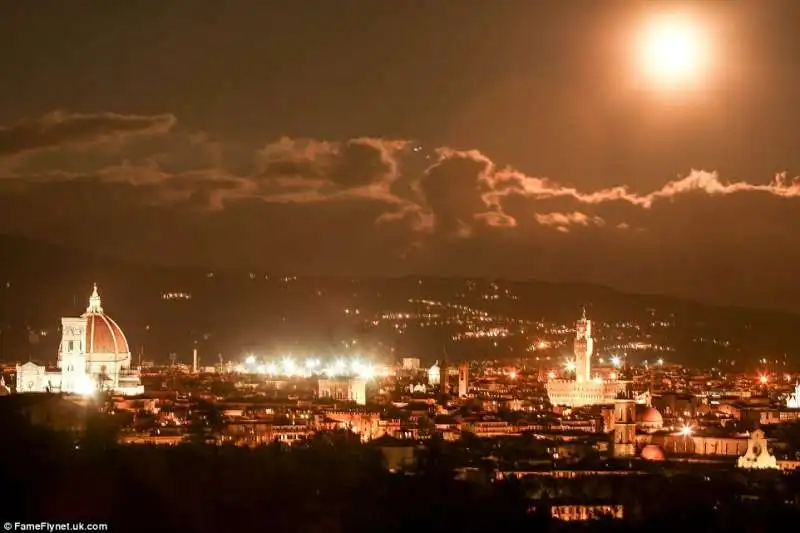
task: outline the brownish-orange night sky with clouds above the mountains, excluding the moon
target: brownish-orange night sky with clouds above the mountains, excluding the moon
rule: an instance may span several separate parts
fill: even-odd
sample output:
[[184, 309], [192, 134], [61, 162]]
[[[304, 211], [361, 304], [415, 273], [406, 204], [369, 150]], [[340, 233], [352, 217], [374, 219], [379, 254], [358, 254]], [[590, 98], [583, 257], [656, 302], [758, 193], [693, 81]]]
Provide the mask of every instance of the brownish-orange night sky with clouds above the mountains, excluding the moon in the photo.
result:
[[[643, 20], [703, 28], [656, 88]], [[800, 2], [0, 2], [0, 232], [800, 309]]]

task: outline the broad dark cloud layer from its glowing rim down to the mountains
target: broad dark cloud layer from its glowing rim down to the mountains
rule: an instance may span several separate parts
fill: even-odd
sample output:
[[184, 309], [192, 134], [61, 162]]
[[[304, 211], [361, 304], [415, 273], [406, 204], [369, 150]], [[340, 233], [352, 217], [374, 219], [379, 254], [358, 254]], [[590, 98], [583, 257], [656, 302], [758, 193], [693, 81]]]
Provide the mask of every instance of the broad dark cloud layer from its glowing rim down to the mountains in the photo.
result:
[[82, 246], [298, 271], [507, 274], [630, 290], [649, 290], [635, 285], [648, 272], [690, 295], [709, 293], [720, 271], [734, 285], [756, 267], [769, 283], [791, 280], [780, 265], [800, 223], [800, 187], [786, 174], [748, 183], [692, 170], [650, 191], [583, 190], [477, 150], [373, 138], [249, 148], [173, 123], [103, 113], [0, 130], [4, 154], [26, 152], [0, 169], [0, 228], [52, 238], [102, 225], [102, 238]]

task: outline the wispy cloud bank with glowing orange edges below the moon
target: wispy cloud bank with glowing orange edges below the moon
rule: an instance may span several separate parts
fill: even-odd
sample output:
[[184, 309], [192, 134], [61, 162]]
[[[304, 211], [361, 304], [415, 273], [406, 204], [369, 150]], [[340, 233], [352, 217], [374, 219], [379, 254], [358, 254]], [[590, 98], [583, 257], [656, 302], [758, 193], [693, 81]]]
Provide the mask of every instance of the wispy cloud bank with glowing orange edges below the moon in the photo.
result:
[[[352, 200], [382, 204], [379, 224], [411, 222], [415, 232], [442, 231], [468, 236], [476, 226], [514, 228], [520, 218], [565, 231], [573, 226], [603, 226], [600, 216], [580, 210], [530, 213], [508, 212], [514, 200], [562, 200], [594, 208], [603, 204], [628, 204], [642, 210], [681, 196], [726, 196], [760, 193], [781, 198], [800, 196], [800, 183], [779, 173], [763, 184], [723, 181], [716, 172], [691, 170], [666, 182], [660, 189], [634, 192], [627, 185], [600, 190], [580, 190], [548, 177], [529, 176], [493, 162], [479, 150], [422, 147], [410, 140], [357, 138], [345, 141], [290, 139], [268, 142], [247, 155], [250, 168], [237, 171], [226, 165], [218, 142], [203, 134], [174, 134], [176, 118], [162, 115], [115, 113], [69, 114], [53, 112], [0, 127], [0, 161], [6, 181], [15, 185], [71, 180], [103, 184], [125, 183], [152, 188], [151, 203], [195, 204], [196, 208], [226, 209], [238, 201], [277, 204], [314, 204]], [[205, 160], [203, 168], [180, 169], [172, 165], [179, 154], [139, 154], [137, 137], [172, 137], [167, 147], [194, 152]], [[177, 142], [176, 142], [177, 141]], [[178, 146], [180, 145], [180, 146]], [[86, 147], [113, 154], [111, 164], [85, 170], [65, 170], [37, 164], [37, 156], [53, 151], [78, 151]], [[138, 147], [140, 148], [140, 147]], [[73, 154], [79, 158], [79, 155]], [[106, 159], [109, 159], [106, 157]], [[239, 165], [241, 166], [241, 165]], [[205, 205], [202, 205], [205, 204]], [[629, 226], [616, 220], [617, 227]]]

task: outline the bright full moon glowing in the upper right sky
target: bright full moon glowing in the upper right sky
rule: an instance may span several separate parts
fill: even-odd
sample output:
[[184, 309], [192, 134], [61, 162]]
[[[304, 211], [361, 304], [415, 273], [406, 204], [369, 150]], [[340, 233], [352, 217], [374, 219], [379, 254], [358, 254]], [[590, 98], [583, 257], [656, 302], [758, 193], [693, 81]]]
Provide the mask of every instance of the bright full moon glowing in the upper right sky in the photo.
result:
[[703, 32], [685, 17], [662, 16], [642, 32], [642, 68], [658, 85], [682, 86], [697, 81], [706, 67]]

